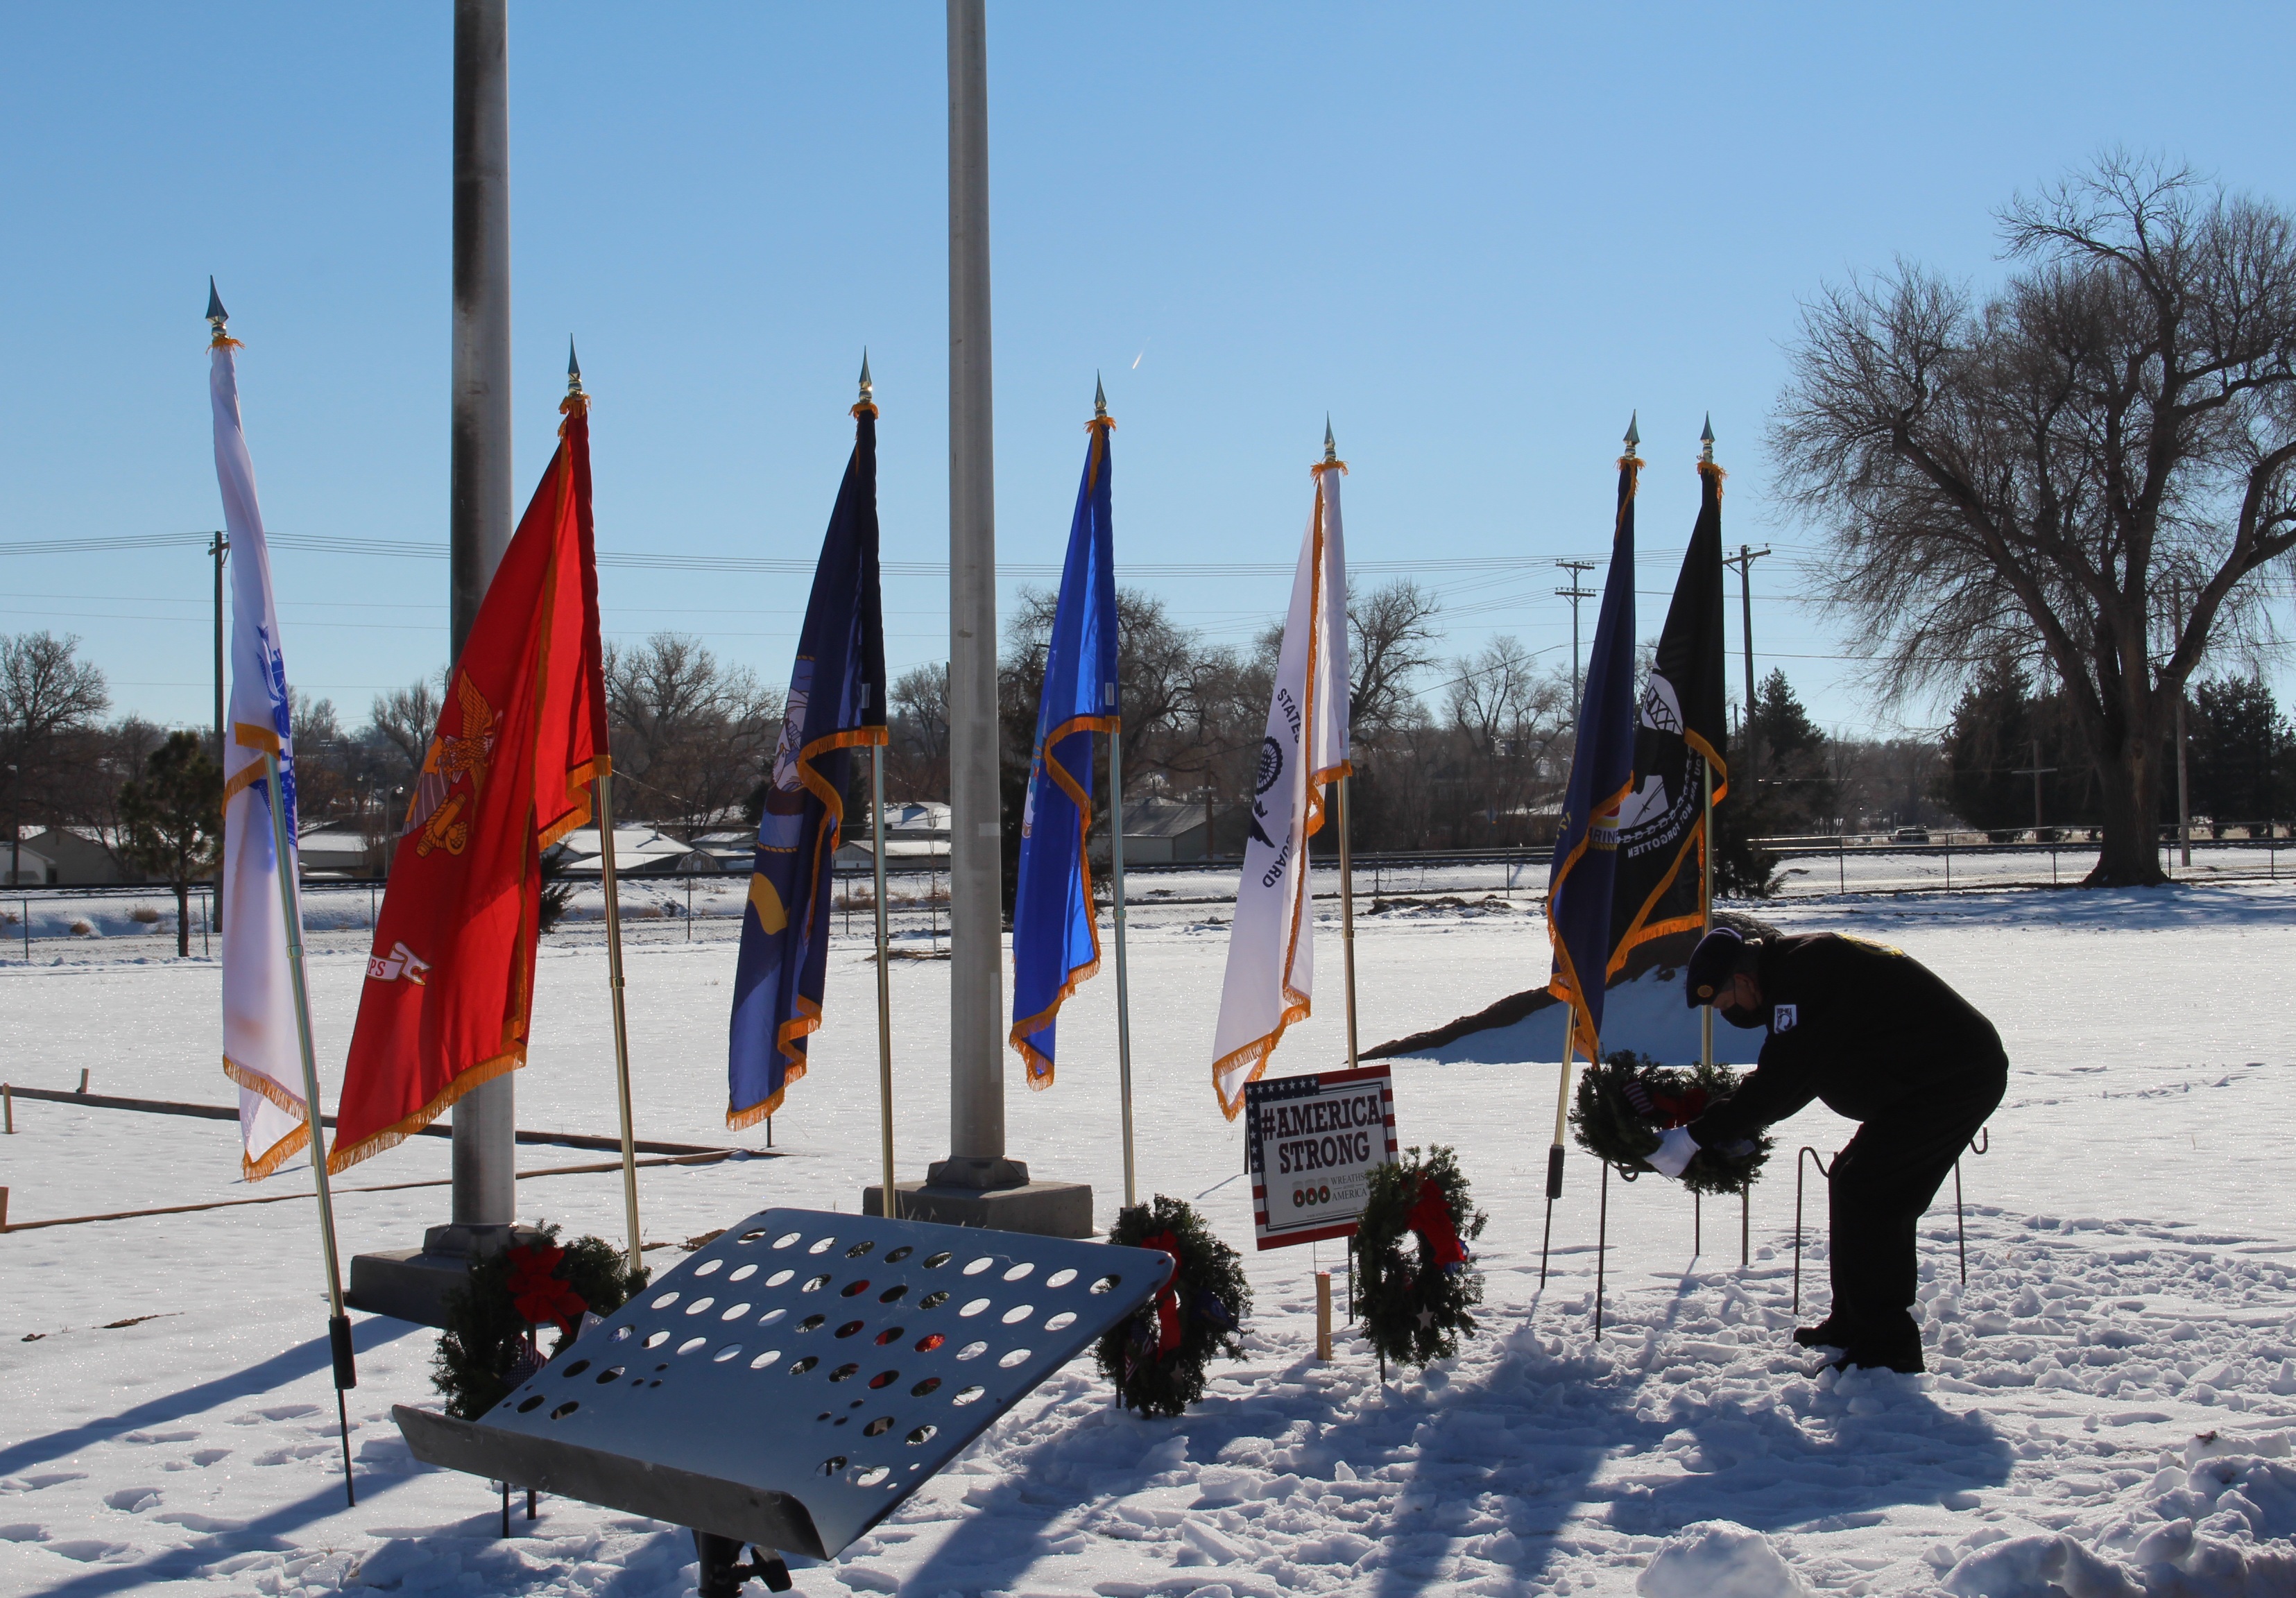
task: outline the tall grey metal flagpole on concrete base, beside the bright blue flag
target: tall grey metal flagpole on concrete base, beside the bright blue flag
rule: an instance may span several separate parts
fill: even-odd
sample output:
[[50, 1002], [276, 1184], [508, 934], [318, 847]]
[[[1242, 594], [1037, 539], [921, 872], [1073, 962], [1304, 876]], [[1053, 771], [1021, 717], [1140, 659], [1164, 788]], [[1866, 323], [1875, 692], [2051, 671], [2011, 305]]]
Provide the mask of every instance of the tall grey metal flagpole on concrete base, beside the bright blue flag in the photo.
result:
[[987, 80], [983, 0], [948, 0], [948, 1159], [900, 1212], [1086, 1238], [1093, 1189], [1006, 1157]]

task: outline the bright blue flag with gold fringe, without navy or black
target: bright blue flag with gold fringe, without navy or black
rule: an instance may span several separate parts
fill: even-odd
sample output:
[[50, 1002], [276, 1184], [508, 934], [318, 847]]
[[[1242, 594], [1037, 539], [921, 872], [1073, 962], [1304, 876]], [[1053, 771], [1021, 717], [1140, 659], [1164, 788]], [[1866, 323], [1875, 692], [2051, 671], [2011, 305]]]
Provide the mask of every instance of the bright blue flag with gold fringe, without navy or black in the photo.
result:
[[[1029, 808], [1019, 824], [1019, 891], [1013, 900], [1013, 1047], [1029, 1063], [1029, 1086], [1052, 1086], [1054, 1024], [1077, 985], [1100, 969], [1093, 868], [1093, 732], [1118, 728], [1116, 558], [1109, 523], [1109, 429], [1095, 418], [1084, 455], [1068, 565], [1045, 654], [1045, 696], [1035, 709]], [[1123, 827], [1123, 794], [1114, 794]]]

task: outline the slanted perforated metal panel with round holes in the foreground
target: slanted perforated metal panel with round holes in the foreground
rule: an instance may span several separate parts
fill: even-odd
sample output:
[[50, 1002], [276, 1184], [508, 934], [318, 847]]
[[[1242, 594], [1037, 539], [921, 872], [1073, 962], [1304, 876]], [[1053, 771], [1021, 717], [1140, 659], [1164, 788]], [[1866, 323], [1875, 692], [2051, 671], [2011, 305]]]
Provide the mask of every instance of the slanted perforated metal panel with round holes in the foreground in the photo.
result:
[[592, 1327], [478, 1430], [788, 1492], [833, 1554], [1169, 1270], [1164, 1254], [1104, 1242], [765, 1210]]

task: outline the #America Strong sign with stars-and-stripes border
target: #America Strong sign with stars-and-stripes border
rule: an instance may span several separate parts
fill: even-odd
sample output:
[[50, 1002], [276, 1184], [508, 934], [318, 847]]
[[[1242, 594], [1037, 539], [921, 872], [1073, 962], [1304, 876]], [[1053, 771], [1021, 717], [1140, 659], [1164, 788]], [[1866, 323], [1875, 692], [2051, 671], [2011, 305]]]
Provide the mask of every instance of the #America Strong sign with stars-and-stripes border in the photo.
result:
[[1396, 1157], [1394, 1077], [1364, 1065], [1249, 1084], [1244, 1153], [1261, 1249], [1352, 1238], [1371, 1169]]

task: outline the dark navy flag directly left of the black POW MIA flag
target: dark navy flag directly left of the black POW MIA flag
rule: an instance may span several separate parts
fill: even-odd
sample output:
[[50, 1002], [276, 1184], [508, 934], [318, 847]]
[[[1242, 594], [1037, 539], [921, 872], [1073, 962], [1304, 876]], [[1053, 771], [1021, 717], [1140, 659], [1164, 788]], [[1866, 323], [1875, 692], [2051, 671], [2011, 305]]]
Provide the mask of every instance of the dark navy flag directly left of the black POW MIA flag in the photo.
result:
[[1580, 698], [1577, 748], [1564, 790], [1561, 833], [1548, 872], [1548, 937], [1554, 976], [1548, 992], [1570, 1006], [1570, 1040], [1600, 1058], [1603, 973], [1609, 967], [1609, 905], [1619, 866], [1619, 806], [1635, 788], [1635, 480], [1642, 461], [1619, 457], [1619, 523], [1603, 579], [1603, 615], [1593, 625], [1587, 691]]

